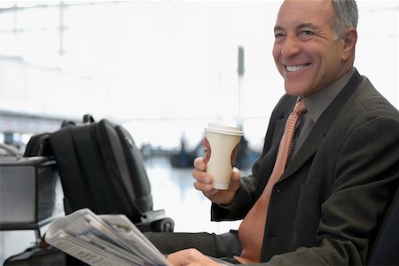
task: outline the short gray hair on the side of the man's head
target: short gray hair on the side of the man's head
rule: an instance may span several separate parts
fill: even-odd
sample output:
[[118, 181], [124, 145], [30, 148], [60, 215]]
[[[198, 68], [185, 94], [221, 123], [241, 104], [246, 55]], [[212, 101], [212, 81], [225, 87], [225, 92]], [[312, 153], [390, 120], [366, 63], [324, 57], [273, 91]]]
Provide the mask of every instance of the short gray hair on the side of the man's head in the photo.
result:
[[333, 39], [338, 41], [349, 27], [357, 27], [359, 14], [355, 0], [332, 0], [332, 6], [335, 10], [335, 15], [332, 19]]

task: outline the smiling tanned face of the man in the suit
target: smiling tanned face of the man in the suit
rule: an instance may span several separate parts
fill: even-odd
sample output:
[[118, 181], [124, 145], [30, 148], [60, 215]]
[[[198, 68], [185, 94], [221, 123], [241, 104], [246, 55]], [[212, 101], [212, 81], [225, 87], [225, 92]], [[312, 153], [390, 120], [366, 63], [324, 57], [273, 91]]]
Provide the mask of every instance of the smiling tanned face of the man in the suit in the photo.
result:
[[333, 15], [326, 0], [287, 0], [281, 6], [273, 57], [288, 94], [308, 97], [344, 74], [344, 42], [333, 41]]

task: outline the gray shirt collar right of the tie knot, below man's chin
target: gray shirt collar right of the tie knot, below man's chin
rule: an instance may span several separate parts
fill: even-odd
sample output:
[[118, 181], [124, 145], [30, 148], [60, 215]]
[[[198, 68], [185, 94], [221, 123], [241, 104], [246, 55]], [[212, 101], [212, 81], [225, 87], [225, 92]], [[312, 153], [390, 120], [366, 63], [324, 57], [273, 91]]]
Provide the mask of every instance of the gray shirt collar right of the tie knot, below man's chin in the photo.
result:
[[337, 97], [340, 90], [345, 87], [354, 72], [355, 68], [352, 67], [348, 73], [342, 75], [336, 82], [333, 82], [323, 90], [317, 91], [308, 98], [304, 98], [307, 113], [314, 123], [325, 112], [325, 109], [332, 103], [332, 100]]

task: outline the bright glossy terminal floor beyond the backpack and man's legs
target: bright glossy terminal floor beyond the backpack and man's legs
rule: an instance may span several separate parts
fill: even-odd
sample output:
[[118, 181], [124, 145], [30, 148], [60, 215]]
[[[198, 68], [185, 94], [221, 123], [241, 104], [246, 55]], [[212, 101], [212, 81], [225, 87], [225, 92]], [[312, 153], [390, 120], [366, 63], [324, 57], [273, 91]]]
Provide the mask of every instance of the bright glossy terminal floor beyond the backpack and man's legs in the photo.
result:
[[[154, 209], [164, 209], [175, 221], [175, 231], [222, 233], [238, 222], [210, 222], [210, 201], [193, 187], [192, 168], [172, 168], [166, 158], [146, 161]], [[43, 228], [42, 231], [45, 231]], [[0, 231], [0, 265], [35, 243], [35, 231]]]

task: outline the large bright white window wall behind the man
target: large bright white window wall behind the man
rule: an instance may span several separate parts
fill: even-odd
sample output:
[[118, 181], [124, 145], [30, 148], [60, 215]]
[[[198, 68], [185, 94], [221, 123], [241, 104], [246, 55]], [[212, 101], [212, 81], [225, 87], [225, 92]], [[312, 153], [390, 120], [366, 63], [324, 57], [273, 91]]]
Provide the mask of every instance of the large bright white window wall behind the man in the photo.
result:
[[[284, 93], [271, 57], [281, 1], [7, 3], [0, 9], [0, 108], [112, 117], [143, 142], [165, 120], [174, 137], [190, 137], [209, 120], [243, 121], [246, 137], [262, 145]], [[358, 6], [356, 67], [399, 106], [397, 1]]]

